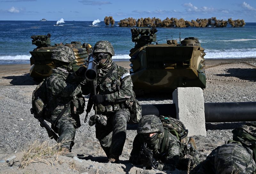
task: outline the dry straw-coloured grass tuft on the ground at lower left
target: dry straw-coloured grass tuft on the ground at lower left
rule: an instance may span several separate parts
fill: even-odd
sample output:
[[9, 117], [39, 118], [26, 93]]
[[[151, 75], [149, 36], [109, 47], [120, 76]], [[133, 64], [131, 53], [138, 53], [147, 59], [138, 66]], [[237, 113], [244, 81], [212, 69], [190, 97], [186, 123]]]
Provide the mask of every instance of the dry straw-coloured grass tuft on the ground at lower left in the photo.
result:
[[45, 163], [47, 165], [53, 165], [53, 163], [62, 163], [58, 160], [58, 155], [62, 154], [62, 151], [59, 150], [60, 143], [50, 144], [49, 141], [43, 141], [42, 143], [39, 140], [36, 140], [33, 144], [30, 145], [28, 151], [24, 152], [20, 162], [20, 169], [24, 169], [30, 163]]

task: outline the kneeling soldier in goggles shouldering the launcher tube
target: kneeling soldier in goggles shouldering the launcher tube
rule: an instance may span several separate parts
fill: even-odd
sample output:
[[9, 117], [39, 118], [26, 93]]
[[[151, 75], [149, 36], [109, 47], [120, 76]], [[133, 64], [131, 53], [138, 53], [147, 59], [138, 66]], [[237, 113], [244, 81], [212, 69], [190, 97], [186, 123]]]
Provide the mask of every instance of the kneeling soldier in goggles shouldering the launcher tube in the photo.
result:
[[113, 62], [114, 55], [110, 42], [99, 41], [95, 44], [93, 56], [100, 62], [96, 79], [97, 95], [92, 95], [92, 101], [97, 114], [89, 120], [91, 126], [96, 122], [96, 138], [111, 163], [117, 163], [122, 154], [126, 122], [130, 118], [128, 107], [134, 96], [130, 73]]

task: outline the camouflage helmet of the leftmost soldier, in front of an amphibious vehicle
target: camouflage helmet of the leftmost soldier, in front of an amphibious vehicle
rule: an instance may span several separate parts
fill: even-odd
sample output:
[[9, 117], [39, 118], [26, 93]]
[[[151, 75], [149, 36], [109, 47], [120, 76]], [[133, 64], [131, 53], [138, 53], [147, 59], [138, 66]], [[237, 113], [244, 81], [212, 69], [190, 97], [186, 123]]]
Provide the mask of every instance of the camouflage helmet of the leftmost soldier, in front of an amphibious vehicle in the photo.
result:
[[52, 59], [60, 62], [71, 63], [75, 60], [74, 51], [67, 46], [58, 46], [53, 49]]

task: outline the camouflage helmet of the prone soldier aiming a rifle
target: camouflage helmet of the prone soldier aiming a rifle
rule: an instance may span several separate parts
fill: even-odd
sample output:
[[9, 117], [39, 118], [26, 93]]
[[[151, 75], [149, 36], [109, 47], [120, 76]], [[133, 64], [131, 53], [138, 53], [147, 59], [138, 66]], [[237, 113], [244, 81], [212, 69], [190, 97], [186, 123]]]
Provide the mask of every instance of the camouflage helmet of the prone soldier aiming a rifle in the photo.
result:
[[152, 132], [158, 132], [158, 133], [164, 132], [164, 126], [161, 120], [155, 115], [143, 116], [139, 121], [137, 133], [152, 133]]

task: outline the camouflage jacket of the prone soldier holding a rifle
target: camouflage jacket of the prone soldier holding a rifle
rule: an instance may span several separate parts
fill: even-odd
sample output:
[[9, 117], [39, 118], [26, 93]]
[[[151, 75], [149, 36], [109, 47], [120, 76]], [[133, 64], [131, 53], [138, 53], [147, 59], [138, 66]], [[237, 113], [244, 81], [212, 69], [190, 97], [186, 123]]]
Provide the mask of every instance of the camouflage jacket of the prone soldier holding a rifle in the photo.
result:
[[[163, 133], [160, 135], [162, 138], [158, 139], [156, 145], [154, 147], [148, 147], [147, 145], [147, 148], [153, 152], [153, 157], [159, 163], [157, 170], [174, 170], [181, 154], [180, 141], [174, 135], [169, 133], [168, 148], [166, 148], [166, 151], [161, 153], [161, 144], [164, 140], [164, 135]], [[142, 164], [139, 158], [139, 153], [143, 143], [143, 135], [137, 134], [133, 141], [131, 157], [129, 159], [129, 161], [134, 165]]]

